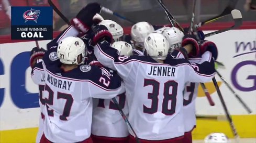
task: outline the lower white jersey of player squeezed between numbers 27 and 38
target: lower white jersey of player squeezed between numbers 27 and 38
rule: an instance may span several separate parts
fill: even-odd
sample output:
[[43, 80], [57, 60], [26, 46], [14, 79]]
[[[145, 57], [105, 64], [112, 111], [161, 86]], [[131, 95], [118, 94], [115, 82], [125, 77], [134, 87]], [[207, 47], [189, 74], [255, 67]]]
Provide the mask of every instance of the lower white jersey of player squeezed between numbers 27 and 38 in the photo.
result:
[[[119, 107], [128, 116], [128, 103], [125, 93], [115, 97]], [[127, 125], [120, 115], [118, 108], [111, 99], [93, 99], [92, 134], [104, 137], [127, 137], [129, 135]]]

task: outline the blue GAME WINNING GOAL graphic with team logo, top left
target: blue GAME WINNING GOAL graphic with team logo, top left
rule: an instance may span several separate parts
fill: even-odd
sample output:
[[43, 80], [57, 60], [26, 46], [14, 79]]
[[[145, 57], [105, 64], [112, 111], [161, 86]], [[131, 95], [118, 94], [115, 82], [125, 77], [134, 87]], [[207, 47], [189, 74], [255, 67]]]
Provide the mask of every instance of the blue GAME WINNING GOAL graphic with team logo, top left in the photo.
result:
[[12, 6], [12, 40], [52, 40], [52, 7]]

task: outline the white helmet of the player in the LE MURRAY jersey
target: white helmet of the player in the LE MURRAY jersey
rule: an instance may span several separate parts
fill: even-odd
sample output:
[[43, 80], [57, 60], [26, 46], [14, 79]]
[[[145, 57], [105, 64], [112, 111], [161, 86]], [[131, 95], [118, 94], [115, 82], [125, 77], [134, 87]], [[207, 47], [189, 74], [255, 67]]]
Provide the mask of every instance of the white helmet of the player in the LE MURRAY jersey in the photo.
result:
[[[77, 57], [82, 55], [82, 62], [77, 62]], [[87, 55], [87, 48], [79, 37], [66, 37], [59, 42], [57, 56], [65, 64], [82, 64]]]

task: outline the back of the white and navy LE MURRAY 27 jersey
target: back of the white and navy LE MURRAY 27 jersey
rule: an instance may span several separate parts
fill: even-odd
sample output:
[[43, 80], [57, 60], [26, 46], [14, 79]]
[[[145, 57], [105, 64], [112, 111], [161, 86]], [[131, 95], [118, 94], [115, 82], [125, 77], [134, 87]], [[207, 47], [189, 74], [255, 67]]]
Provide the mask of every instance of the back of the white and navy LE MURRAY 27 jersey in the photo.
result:
[[[52, 142], [77, 142], [89, 138], [92, 123], [91, 97], [104, 98], [102, 90], [108, 92], [107, 88], [99, 84], [109, 84], [108, 71], [82, 64], [64, 72], [55, 64], [43, 65], [46, 80], [44, 134], [47, 139]], [[120, 84], [119, 81], [117, 84]], [[109, 95], [110, 97], [105, 98], [113, 97], [112, 93]]]

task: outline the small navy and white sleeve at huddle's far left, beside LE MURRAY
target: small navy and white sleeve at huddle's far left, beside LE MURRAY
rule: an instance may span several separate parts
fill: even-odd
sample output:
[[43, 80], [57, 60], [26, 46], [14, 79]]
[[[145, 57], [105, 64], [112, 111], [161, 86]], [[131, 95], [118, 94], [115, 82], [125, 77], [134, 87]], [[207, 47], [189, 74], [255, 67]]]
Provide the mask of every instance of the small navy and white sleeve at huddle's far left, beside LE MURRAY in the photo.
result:
[[37, 85], [44, 84], [42, 61], [35, 64], [35, 68], [33, 68], [31, 71], [31, 79]]

